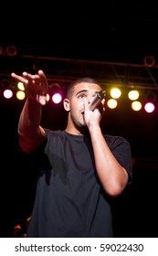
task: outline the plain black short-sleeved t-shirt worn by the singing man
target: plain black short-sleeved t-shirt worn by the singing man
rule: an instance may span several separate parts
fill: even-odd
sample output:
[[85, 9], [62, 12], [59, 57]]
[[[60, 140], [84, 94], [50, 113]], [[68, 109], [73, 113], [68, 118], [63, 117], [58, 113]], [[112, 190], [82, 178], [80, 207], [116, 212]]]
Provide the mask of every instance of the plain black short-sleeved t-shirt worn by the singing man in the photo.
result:
[[[46, 133], [27, 237], [112, 237], [111, 204], [96, 173], [90, 137], [47, 129]], [[118, 136], [105, 139], [131, 180], [130, 144]]]

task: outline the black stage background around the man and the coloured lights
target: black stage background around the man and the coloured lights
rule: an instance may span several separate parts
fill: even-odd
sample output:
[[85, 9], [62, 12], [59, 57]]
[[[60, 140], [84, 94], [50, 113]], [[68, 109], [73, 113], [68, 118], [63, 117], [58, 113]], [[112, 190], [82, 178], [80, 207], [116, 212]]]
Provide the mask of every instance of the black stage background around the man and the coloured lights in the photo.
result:
[[[18, 7], [18, 8], [17, 8]], [[113, 80], [101, 63], [111, 63], [121, 80], [136, 81], [150, 88], [157, 97], [158, 7], [133, 1], [58, 1], [42, 5], [3, 5], [0, 17], [1, 79], [10, 73], [44, 69], [55, 80], [55, 71], [64, 82], [83, 75]], [[5, 48], [15, 45], [16, 57], [8, 57]], [[32, 60], [24, 58], [30, 56]], [[143, 71], [144, 58], [153, 56], [154, 67]], [[41, 62], [39, 57], [66, 59]], [[13, 59], [14, 58], [14, 59]], [[68, 59], [72, 59], [69, 62]], [[83, 60], [78, 66], [76, 60]], [[90, 61], [87, 65], [84, 60]], [[58, 61], [57, 61], [58, 63]], [[119, 64], [119, 69], [117, 65]], [[73, 69], [73, 67], [76, 67]], [[52, 68], [53, 67], [53, 68]], [[70, 72], [69, 69], [73, 69]], [[141, 69], [140, 69], [141, 68]], [[148, 67], [147, 67], [148, 68]], [[65, 70], [65, 73], [63, 73]], [[84, 71], [83, 71], [84, 70]], [[96, 71], [97, 70], [97, 71]], [[152, 76], [151, 76], [152, 73]], [[116, 78], [115, 78], [116, 79]], [[67, 82], [66, 82], [67, 84]], [[5, 101], [0, 95], [1, 132], [1, 237], [13, 236], [16, 224], [25, 226], [30, 215], [37, 182], [34, 161], [18, 150], [17, 123], [24, 102]], [[123, 100], [115, 111], [107, 110], [101, 127], [104, 133], [122, 135], [132, 146], [133, 182], [121, 197], [114, 200], [114, 231], [118, 237], [157, 237], [158, 112], [132, 112]], [[62, 118], [61, 118], [62, 116]], [[42, 124], [64, 129], [67, 122], [62, 104], [48, 103], [43, 109]], [[25, 228], [24, 228], [25, 229]]]

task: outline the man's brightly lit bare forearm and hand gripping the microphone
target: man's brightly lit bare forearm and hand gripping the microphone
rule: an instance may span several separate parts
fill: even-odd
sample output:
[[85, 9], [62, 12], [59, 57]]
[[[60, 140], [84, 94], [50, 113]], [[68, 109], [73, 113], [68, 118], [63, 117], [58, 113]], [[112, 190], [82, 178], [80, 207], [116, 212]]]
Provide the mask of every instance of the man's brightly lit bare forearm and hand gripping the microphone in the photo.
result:
[[[104, 101], [102, 101], [102, 106]], [[88, 102], [84, 99], [85, 104], [85, 121], [88, 125], [91, 137], [91, 143], [94, 152], [95, 165], [100, 182], [105, 191], [116, 197], [121, 194], [126, 187], [129, 179], [127, 170], [120, 165], [116, 157], [112, 154], [111, 149], [105, 141], [100, 129], [101, 108], [90, 112]], [[104, 108], [103, 108], [104, 109]], [[121, 145], [120, 145], [121, 146]], [[120, 150], [121, 152], [121, 150]], [[124, 161], [131, 157], [130, 151], [126, 151]]]

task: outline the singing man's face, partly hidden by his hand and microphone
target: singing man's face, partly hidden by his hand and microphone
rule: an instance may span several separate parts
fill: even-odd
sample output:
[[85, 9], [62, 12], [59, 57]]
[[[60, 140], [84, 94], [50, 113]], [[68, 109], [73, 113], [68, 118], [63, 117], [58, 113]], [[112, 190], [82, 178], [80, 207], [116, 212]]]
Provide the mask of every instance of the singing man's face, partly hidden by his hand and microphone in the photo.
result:
[[85, 126], [84, 121], [84, 101], [83, 98], [90, 102], [96, 96], [96, 92], [100, 91], [101, 88], [98, 84], [81, 82], [74, 87], [72, 96], [69, 100], [69, 114], [72, 123], [76, 127]]

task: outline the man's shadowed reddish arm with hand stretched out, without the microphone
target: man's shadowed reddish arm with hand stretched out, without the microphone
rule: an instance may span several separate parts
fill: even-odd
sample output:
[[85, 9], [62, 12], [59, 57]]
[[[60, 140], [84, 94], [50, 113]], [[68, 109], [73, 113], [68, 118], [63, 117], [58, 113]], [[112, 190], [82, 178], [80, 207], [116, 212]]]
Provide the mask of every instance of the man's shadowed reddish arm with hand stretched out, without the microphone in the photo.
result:
[[40, 126], [42, 105], [47, 102], [47, 78], [42, 70], [36, 75], [23, 72], [22, 76], [11, 76], [24, 83], [27, 99], [18, 122], [19, 144], [26, 153], [33, 153], [46, 140], [46, 133]]

